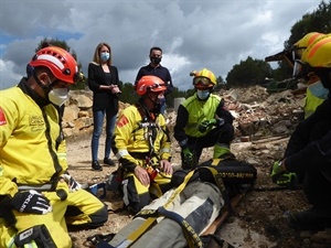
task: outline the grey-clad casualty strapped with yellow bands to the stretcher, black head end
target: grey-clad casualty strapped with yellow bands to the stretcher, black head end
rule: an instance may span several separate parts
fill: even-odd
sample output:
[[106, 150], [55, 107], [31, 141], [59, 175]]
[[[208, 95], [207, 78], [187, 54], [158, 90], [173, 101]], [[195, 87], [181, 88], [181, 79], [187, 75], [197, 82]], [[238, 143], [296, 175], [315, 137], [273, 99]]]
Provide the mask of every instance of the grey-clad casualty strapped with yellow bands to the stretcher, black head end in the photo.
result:
[[170, 191], [97, 247], [202, 248], [207, 244], [203, 234], [221, 211], [232, 211], [229, 197], [244, 193], [256, 175], [252, 164], [234, 158], [213, 159], [189, 172], [175, 171]]

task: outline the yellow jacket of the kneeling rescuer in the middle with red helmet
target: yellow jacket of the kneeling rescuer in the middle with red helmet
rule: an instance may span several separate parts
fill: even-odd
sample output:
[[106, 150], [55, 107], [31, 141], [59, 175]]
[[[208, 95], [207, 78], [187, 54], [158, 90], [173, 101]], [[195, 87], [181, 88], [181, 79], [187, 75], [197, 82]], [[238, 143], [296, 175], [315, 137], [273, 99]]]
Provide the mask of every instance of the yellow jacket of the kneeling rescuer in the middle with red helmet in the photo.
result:
[[132, 170], [136, 165], [143, 166], [132, 157], [132, 153], [148, 154], [150, 152], [149, 134], [153, 136], [153, 153], [161, 160], [171, 158], [169, 132], [162, 115], [159, 115], [154, 121], [142, 121], [141, 114], [136, 106], [127, 107], [119, 114], [114, 133], [113, 151], [120, 163], [130, 164], [127, 169]]

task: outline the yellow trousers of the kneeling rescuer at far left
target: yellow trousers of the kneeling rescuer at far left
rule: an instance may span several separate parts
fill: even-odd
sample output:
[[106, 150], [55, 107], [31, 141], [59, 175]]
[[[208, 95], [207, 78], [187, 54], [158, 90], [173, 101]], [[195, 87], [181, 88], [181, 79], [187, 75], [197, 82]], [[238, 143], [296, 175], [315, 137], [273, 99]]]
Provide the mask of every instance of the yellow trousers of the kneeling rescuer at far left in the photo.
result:
[[[93, 194], [85, 190], [68, 192], [65, 182], [58, 182], [56, 190], [64, 190], [67, 193], [67, 198], [61, 201], [56, 192], [43, 192], [52, 205], [53, 211], [45, 215], [28, 214], [13, 211], [17, 218], [15, 228], [7, 226], [6, 222], [0, 218], [0, 247], [14, 248], [9, 246], [14, 236], [30, 227], [44, 224], [52, 236], [56, 247], [71, 248], [72, 240], [68, 236], [67, 224], [83, 225], [92, 223], [90, 216], [105, 208], [105, 205]], [[78, 216], [65, 218], [65, 213], [68, 206], [76, 206], [82, 213]], [[107, 220], [107, 211], [105, 212], [104, 222]]]

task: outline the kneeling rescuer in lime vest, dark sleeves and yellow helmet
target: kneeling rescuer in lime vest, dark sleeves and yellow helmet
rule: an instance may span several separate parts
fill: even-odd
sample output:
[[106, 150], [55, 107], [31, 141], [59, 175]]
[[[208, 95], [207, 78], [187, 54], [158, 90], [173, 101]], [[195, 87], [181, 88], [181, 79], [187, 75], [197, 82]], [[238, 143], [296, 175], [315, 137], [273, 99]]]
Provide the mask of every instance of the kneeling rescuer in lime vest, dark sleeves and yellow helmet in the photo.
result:
[[173, 129], [184, 169], [196, 166], [203, 148], [214, 147], [213, 158], [231, 154], [234, 138], [233, 116], [225, 109], [224, 99], [212, 94], [215, 75], [206, 68], [192, 75], [196, 93], [179, 106]]

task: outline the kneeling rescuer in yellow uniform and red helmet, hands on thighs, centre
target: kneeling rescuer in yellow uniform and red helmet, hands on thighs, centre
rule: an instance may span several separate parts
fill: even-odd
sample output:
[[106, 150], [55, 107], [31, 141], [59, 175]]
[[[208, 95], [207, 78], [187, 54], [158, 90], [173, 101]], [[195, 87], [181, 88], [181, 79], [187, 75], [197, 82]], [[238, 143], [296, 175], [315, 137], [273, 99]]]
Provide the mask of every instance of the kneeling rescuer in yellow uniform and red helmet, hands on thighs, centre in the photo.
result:
[[115, 128], [113, 151], [124, 170], [124, 202], [134, 213], [170, 188], [170, 137], [160, 115], [166, 89], [159, 77], [141, 77], [136, 89], [141, 97], [119, 114]]

